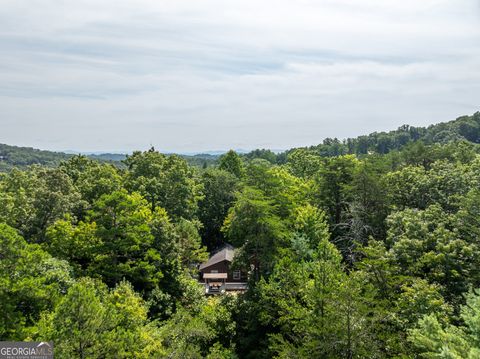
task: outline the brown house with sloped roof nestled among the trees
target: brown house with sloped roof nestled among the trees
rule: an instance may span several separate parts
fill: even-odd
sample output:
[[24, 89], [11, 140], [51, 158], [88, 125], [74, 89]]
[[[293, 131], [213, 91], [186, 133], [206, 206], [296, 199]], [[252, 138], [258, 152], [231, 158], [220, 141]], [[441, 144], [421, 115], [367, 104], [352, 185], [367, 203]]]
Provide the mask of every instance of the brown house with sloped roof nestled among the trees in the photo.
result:
[[226, 244], [199, 267], [206, 294], [241, 292], [247, 289], [247, 273], [230, 268], [235, 248]]

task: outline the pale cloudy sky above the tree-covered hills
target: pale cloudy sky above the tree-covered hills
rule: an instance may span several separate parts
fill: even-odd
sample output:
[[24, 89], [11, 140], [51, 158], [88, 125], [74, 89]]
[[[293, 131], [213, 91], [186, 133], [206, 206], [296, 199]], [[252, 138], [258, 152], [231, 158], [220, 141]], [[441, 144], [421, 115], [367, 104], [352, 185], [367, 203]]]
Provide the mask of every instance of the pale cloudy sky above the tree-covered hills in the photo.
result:
[[480, 0], [2, 0], [0, 143], [288, 149], [480, 110]]

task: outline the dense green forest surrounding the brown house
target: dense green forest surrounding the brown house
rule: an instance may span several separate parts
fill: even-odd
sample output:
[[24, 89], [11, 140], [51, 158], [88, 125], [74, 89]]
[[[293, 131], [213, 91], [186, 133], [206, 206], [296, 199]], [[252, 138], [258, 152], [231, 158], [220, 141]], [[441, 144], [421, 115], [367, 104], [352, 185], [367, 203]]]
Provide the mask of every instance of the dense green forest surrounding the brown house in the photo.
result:
[[[479, 142], [477, 112], [193, 164], [16, 152], [0, 340], [58, 358], [479, 358]], [[205, 297], [197, 266], [226, 242], [249, 289]]]

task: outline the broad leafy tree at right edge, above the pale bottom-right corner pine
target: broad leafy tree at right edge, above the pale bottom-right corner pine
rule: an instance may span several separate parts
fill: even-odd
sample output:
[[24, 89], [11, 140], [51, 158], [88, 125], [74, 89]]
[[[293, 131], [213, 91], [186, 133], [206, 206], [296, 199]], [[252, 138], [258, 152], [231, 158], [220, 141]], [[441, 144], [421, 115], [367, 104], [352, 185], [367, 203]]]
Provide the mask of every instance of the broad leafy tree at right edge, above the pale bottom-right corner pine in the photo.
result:
[[469, 285], [479, 283], [480, 248], [462, 238], [454, 222], [439, 205], [396, 212], [388, 218], [387, 243], [402, 274], [439, 284], [445, 298], [458, 304]]

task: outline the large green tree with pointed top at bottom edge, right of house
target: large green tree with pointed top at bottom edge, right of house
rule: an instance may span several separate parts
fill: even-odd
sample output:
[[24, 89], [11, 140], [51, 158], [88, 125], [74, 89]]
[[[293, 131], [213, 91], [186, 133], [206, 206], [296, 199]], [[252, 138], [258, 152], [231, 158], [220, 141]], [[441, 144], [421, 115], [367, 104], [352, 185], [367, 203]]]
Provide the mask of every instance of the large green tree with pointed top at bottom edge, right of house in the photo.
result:
[[335, 246], [322, 239], [311, 262], [287, 256], [259, 284], [261, 320], [275, 328], [278, 358], [376, 357], [373, 287], [361, 272], [347, 275]]

